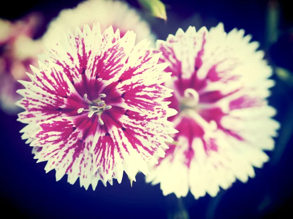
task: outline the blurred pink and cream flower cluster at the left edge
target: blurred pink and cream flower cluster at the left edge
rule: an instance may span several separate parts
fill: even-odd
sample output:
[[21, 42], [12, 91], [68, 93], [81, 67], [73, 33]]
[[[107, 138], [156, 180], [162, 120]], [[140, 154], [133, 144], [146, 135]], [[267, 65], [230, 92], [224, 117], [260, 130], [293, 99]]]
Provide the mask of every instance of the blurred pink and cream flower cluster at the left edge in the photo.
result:
[[0, 107], [7, 114], [21, 110], [15, 105], [21, 99], [16, 91], [22, 88], [17, 80], [28, 79], [25, 72], [31, 72], [29, 65], [37, 64], [43, 50], [41, 40], [33, 39], [41, 22], [38, 13], [14, 22], [0, 19]]

